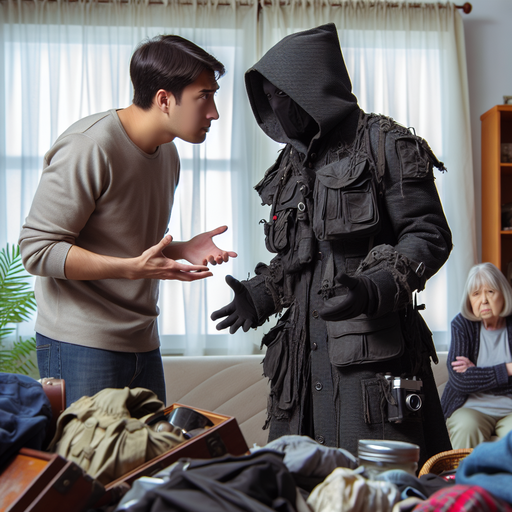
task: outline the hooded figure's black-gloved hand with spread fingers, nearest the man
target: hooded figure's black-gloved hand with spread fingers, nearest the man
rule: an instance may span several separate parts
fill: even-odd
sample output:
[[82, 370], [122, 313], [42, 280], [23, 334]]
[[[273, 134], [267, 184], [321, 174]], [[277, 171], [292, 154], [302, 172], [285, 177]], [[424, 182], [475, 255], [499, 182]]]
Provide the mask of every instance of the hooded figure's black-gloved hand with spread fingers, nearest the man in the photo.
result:
[[[234, 298], [227, 306], [211, 313], [212, 320], [218, 320], [227, 316], [225, 320], [217, 324], [218, 331], [229, 327], [229, 333], [234, 334], [242, 327], [247, 332], [252, 326], [258, 325], [258, 313], [252, 302], [247, 288], [232, 275], [226, 275], [226, 283], [233, 289]], [[229, 316], [228, 316], [229, 315]]]

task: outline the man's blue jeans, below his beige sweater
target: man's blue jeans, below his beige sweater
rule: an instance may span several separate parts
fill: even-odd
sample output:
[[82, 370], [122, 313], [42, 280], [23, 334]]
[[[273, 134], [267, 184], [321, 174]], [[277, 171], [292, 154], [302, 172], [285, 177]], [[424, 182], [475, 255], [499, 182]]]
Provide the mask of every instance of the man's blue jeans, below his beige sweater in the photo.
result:
[[160, 349], [114, 352], [58, 342], [36, 333], [37, 366], [41, 378], [66, 382], [69, 407], [82, 396], [105, 388], [145, 388], [165, 404], [165, 380]]

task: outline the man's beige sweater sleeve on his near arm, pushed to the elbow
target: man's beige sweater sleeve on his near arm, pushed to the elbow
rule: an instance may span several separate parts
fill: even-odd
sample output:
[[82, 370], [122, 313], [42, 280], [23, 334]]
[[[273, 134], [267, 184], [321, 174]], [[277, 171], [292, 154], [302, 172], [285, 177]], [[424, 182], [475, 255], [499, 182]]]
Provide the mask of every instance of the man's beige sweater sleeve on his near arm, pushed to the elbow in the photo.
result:
[[108, 167], [104, 152], [86, 135], [68, 135], [53, 145], [19, 236], [28, 272], [66, 279], [68, 251], [94, 211]]

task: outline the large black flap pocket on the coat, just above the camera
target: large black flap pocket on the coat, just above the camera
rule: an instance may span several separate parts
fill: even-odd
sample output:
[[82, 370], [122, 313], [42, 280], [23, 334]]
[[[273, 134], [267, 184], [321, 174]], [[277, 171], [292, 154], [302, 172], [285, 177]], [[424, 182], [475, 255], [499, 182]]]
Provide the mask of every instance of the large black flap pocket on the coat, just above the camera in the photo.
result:
[[327, 322], [329, 357], [334, 366], [387, 361], [403, 353], [404, 342], [398, 313], [380, 318], [359, 315], [350, 320]]

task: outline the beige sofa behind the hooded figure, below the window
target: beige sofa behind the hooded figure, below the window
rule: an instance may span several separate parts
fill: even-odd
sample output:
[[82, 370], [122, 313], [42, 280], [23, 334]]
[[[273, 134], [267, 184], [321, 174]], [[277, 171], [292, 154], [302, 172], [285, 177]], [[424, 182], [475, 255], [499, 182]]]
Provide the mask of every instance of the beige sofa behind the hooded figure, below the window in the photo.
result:
[[[438, 352], [438, 357], [432, 370], [440, 396], [448, 380], [447, 352]], [[262, 426], [269, 385], [263, 376], [263, 356], [164, 356], [162, 360], [168, 404], [180, 402], [234, 416], [249, 446], [266, 444], [268, 430]]]

